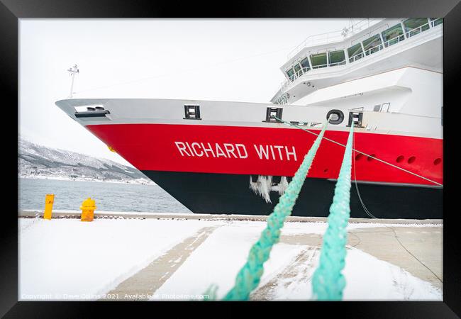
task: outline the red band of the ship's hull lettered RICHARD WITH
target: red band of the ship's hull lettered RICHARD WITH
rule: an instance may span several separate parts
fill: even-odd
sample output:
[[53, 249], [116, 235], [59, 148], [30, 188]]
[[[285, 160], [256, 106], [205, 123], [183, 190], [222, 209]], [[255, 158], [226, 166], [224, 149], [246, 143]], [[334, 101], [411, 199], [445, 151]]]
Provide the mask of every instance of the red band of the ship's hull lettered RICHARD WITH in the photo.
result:
[[[87, 128], [140, 171], [292, 177], [316, 138], [292, 128], [168, 124]], [[324, 136], [345, 144], [348, 132], [327, 130]], [[354, 138], [355, 150], [443, 184], [443, 140], [378, 133], [355, 133]], [[309, 177], [336, 179], [343, 154], [343, 146], [324, 139]], [[358, 181], [435, 185], [358, 153], [354, 167]]]

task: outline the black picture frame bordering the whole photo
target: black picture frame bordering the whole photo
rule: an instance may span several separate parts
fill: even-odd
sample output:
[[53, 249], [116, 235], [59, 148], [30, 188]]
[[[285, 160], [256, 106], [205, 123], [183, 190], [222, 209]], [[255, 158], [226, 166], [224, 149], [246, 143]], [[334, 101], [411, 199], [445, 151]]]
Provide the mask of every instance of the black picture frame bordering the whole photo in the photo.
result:
[[[457, 244], [457, 207], [452, 187], [457, 182], [455, 170], [459, 163], [455, 147], [457, 143], [452, 126], [459, 106], [455, 94], [460, 81], [460, 32], [461, 4], [459, 0], [422, 0], [422, 1], [379, 1], [379, 0], [323, 0], [316, 2], [291, 1], [120, 1], [120, 0], [0, 0], [0, 72], [1, 93], [4, 102], [2, 113], [4, 121], [3, 138], [4, 167], [11, 180], [18, 181], [12, 169], [14, 153], [18, 150], [18, 140], [14, 139], [8, 125], [18, 120], [18, 19], [20, 18], [348, 18], [348, 17], [443, 17], [443, 83], [445, 123], [443, 126], [444, 146], [444, 212], [443, 212], [443, 301], [440, 302], [341, 302], [341, 303], [296, 303], [301, 306], [304, 315], [313, 315], [315, 310], [323, 314], [331, 310], [340, 310], [343, 315], [353, 318], [459, 318], [461, 313], [460, 297], [460, 245]], [[458, 93], [459, 94], [459, 93]], [[448, 104], [448, 108], [446, 105]], [[450, 105], [453, 104], [453, 105]], [[451, 116], [450, 116], [451, 115]], [[18, 123], [16, 121], [16, 123]], [[16, 135], [17, 136], [17, 135]], [[6, 146], [6, 147], [5, 147]], [[451, 146], [451, 147], [450, 147]], [[459, 162], [459, 160], [457, 161]], [[17, 164], [17, 161], [16, 161]], [[4, 185], [8, 181], [4, 181]], [[13, 194], [15, 191], [12, 187]], [[13, 194], [5, 198], [5, 203], [15, 206]], [[17, 188], [16, 188], [17, 195]], [[451, 201], [450, 201], [451, 198]], [[454, 208], [450, 208], [453, 203]], [[17, 216], [13, 216], [15, 207], [7, 206], [2, 214], [2, 224], [6, 227], [1, 233], [1, 272], [0, 272], [0, 315], [6, 318], [87, 318], [96, 308], [117, 312], [119, 306], [128, 307], [132, 315], [141, 308], [157, 308], [160, 303], [91, 303], [57, 301], [18, 301], [18, 232]], [[377, 287], [379, 289], [379, 287]], [[162, 303], [165, 304], [165, 303]], [[172, 308], [178, 303], [166, 303]], [[218, 308], [240, 306], [242, 310], [262, 310], [272, 306], [286, 307], [285, 303], [182, 303], [182, 306], [215, 308], [211, 313], [221, 315]], [[290, 308], [294, 303], [288, 305]], [[286, 308], [287, 309], [287, 308]], [[133, 312], [135, 310], [135, 312]], [[149, 310], [149, 311], [150, 311]], [[205, 310], [205, 309], [203, 309]], [[202, 310], [202, 311], [203, 311]], [[160, 310], [155, 310], [160, 311]], [[140, 312], [139, 312], [140, 313]], [[107, 313], [109, 314], [109, 312]], [[155, 313], [160, 315], [160, 313]], [[118, 312], [118, 315], [121, 315]], [[152, 314], [155, 316], [154, 314]], [[237, 315], [237, 313], [234, 313]], [[288, 311], [285, 315], [295, 315]], [[296, 313], [303, 315], [303, 313]]]

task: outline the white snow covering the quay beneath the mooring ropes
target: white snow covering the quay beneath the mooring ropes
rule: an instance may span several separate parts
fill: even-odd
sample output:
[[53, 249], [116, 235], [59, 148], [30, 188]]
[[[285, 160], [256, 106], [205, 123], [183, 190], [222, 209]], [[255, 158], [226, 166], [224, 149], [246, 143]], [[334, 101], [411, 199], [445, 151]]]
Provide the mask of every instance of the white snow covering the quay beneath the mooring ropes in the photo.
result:
[[[171, 267], [180, 262], [180, 266], [148, 297], [187, 299], [203, 295], [211, 284], [216, 284], [217, 297], [222, 298], [233, 286], [235, 275], [265, 226], [265, 222], [248, 220], [95, 219], [82, 223], [78, 219], [18, 218], [18, 298], [108, 298], [107, 293], [123, 281], [145, 271], [146, 266], [204, 228], [214, 230], [185, 260], [174, 257], [167, 262]], [[318, 264], [321, 235], [326, 227], [326, 223], [318, 222], [286, 223], [251, 298], [311, 300], [311, 276]], [[365, 234], [372, 227], [377, 225], [351, 223], [348, 230]], [[427, 225], [393, 227], [430, 229]], [[349, 237], [352, 240], [354, 236]], [[356, 245], [348, 245], [343, 271], [347, 282], [344, 300], [443, 299], [440, 287], [374, 257], [360, 245], [353, 246]]]

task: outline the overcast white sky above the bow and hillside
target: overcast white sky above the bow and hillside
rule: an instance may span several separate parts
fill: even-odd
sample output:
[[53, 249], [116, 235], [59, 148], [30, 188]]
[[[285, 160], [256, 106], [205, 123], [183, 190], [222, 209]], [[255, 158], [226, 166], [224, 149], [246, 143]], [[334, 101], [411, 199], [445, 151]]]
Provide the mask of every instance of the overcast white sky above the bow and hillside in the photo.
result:
[[[128, 164], [55, 106], [74, 98], [266, 103], [287, 54], [349, 19], [21, 19], [19, 134], [50, 147]], [[128, 83], [127, 83], [128, 82]]]

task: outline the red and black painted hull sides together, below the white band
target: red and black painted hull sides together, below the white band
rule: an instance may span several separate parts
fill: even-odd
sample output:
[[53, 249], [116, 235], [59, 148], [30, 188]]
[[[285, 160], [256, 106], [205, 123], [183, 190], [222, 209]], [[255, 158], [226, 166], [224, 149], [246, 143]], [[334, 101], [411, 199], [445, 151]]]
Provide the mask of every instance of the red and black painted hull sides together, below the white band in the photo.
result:
[[[165, 124], [87, 128], [194, 213], [271, 213], [279, 192], [271, 190], [267, 202], [267, 192], [265, 198], [250, 188], [252, 178], [276, 177], [278, 183], [266, 186], [280, 187], [279, 179], [294, 175], [316, 138], [290, 128]], [[325, 136], [345, 144], [347, 130], [328, 130]], [[355, 148], [443, 183], [440, 139], [362, 132], [355, 133]], [[343, 146], [321, 142], [293, 216], [328, 216], [343, 155]], [[437, 184], [372, 157], [355, 154], [353, 162], [352, 217], [370, 217], [357, 196], [357, 178], [362, 201], [377, 218], [442, 218], [443, 189]]]

